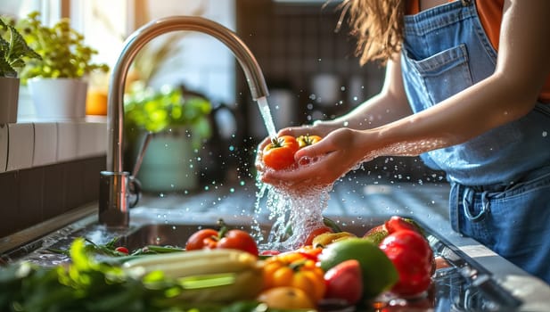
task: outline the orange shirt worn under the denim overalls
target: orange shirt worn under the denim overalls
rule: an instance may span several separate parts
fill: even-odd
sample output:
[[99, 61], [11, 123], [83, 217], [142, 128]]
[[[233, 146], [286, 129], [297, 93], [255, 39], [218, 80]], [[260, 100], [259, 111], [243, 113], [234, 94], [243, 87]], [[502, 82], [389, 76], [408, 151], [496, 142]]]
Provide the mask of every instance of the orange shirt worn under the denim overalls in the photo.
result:
[[[448, 2], [452, 1], [456, 0], [448, 0]], [[475, 2], [478, 14], [480, 15], [481, 25], [483, 26], [483, 29], [485, 29], [485, 33], [487, 34], [491, 45], [493, 45], [497, 51], [504, 3], [504, 0], [481, 0]], [[407, 2], [407, 14], [416, 14], [419, 11], [419, 0], [409, 0]], [[550, 103], [550, 77], [546, 78], [545, 86], [543, 86], [541, 93], [538, 96], [538, 100], [542, 103]]]

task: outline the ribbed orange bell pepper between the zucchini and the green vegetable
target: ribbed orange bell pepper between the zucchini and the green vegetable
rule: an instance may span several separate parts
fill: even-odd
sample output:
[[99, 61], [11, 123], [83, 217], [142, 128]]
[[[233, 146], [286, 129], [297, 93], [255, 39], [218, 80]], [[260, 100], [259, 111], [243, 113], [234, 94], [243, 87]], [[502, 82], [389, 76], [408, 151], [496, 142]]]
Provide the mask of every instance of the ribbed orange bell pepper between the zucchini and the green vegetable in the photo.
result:
[[264, 288], [290, 286], [306, 292], [313, 302], [323, 299], [326, 291], [324, 271], [311, 256], [303, 251], [289, 251], [266, 259]]

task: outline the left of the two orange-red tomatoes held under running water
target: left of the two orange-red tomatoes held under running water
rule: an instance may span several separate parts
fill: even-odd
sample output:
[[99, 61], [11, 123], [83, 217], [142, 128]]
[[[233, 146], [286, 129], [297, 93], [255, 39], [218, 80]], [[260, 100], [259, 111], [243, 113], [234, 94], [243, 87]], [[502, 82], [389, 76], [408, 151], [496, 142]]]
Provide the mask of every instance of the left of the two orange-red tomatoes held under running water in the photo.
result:
[[294, 136], [282, 135], [264, 147], [262, 160], [267, 167], [275, 170], [289, 168], [294, 163], [294, 153], [298, 149], [298, 141]]

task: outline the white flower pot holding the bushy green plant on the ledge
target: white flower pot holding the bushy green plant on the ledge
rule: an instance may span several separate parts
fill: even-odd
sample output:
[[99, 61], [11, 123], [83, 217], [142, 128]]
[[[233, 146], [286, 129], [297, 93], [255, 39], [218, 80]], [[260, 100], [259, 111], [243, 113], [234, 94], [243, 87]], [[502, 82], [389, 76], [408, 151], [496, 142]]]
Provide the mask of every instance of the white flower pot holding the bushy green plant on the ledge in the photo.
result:
[[37, 119], [81, 119], [86, 117], [87, 82], [72, 78], [32, 78], [29, 92]]

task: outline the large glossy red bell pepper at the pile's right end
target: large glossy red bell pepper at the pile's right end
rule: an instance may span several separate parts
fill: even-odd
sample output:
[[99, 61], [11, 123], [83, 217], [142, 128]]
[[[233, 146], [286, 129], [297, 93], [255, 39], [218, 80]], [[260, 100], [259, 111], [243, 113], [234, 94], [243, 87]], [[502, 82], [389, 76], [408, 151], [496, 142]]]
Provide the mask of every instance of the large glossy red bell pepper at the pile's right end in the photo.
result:
[[380, 249], [398, 270], [398, 283], [391, 291], [399, 296], [415, 297], [431, 284], [433, 251], [422, 234], [399, 228], [382, 240]]

